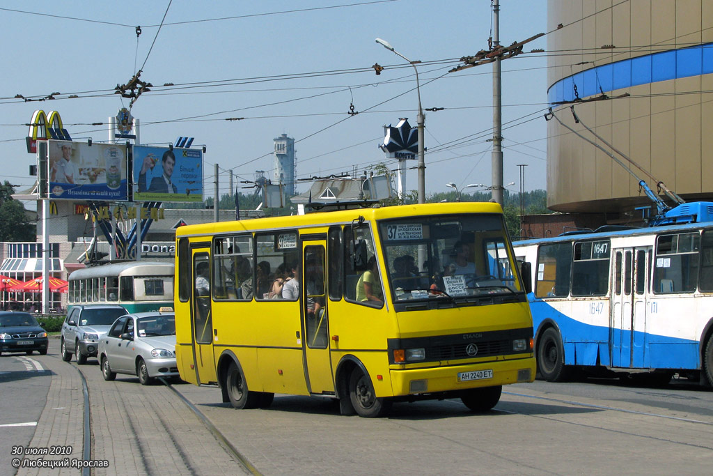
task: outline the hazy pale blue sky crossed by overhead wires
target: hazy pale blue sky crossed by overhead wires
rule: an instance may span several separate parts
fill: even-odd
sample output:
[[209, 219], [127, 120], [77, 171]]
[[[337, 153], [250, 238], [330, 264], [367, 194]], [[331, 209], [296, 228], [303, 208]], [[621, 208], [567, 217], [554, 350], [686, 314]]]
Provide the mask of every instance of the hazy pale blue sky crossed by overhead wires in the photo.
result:
[[[545, 0], [500, 4], [502, 45], [547, 31]], [[422, 62], [426, 195], [451, 191], [448, 182], [491, 183], [492, 65], [448, 73], [462, 56], [488, 49], [491, 1], [4, 0], [0, 14], [0, 180], [16, 190], [34, 183], [25, 137], [36, 109], [59, 111], [74, 141], [107, 141], [108, 118], [130, 106], [115, 88], [138, 70], [153, 85], [130, 108], [141, 143], [195, 137], [193, 145], [206, 148], [206, 195], [215, 163], [221, 195], [229, 193], [230, 170], [236, 184], [255, 181], [258, 170], [269, 174], [273, 139], [282, 133], [296, 141], [298, 179], [377, 163], [395, 169], [378, 146], [384, 125], [405, 117], [416, 126], [416, 79], [376, 38]], [[530, 53], [545, 42], [531, 41], [501, 63], [503, 183], [514, 182], [507, 187], [513, 192], [520, 190], [518, 164], [527, 165], [526, 191], [546, 187], [547, 59]], [[384, 67], [378, 76], [377, 63]], [[51, 101], [15, 98], [55, 92]], [[416, 181], [409, 170], [406, 189]], [[307, 187], [299, 182], [297, 191]]]

